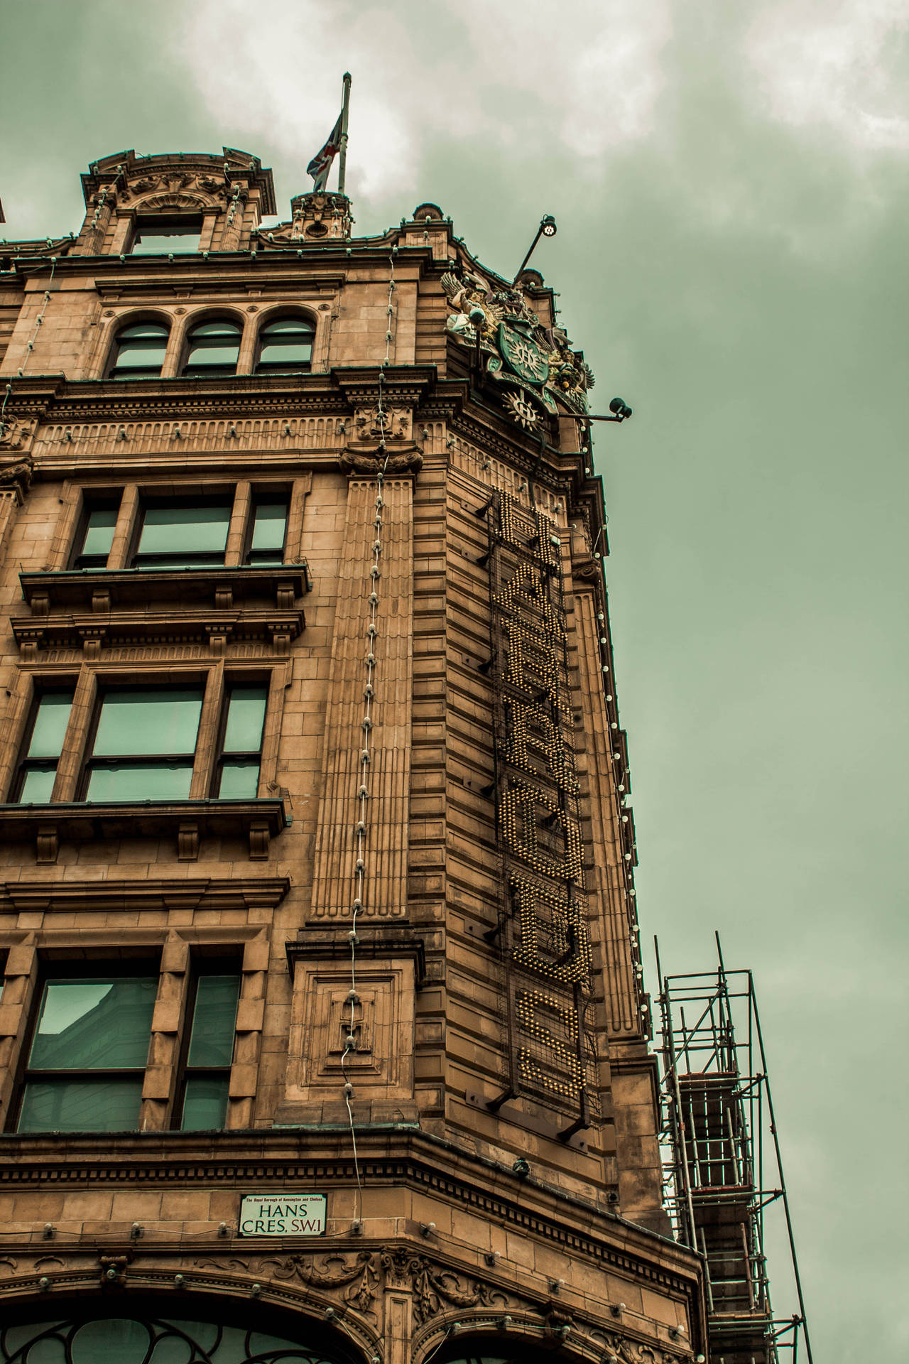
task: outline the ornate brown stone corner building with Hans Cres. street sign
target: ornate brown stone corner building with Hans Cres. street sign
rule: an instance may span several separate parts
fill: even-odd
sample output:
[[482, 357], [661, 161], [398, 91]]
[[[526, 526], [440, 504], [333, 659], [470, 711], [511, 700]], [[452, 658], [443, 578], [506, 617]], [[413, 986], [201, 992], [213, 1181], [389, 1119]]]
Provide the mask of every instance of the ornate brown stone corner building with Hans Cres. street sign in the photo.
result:
[[0, 247], [0, 1364], [703, 1357], [552, 292], [82, 179]]

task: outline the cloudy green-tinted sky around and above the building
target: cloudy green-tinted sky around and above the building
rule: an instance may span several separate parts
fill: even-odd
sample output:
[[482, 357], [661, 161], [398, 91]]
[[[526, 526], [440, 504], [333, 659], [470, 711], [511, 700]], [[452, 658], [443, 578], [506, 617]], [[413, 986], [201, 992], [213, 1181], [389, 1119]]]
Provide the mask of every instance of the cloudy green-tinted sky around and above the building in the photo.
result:
[[597, 460], [643, 933], [756, 974], [816, 1364], [906, 1357], [905, 0], [0, 19], [10, 237], [124, 147], [255, 151], [286, 217], [345, 68], [357, 231], [433, 199], [507, 274], [556, 214], [534, 263], [635, 409]]

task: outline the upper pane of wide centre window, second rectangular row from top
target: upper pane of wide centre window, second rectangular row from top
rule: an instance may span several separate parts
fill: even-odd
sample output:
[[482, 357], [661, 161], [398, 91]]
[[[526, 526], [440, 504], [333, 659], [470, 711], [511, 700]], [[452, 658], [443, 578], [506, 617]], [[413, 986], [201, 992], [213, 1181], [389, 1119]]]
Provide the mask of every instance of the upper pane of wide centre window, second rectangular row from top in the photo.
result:
[[94, 756], [194, 753], [200, 715], [202, 687], [108, 692], [101, 702]]

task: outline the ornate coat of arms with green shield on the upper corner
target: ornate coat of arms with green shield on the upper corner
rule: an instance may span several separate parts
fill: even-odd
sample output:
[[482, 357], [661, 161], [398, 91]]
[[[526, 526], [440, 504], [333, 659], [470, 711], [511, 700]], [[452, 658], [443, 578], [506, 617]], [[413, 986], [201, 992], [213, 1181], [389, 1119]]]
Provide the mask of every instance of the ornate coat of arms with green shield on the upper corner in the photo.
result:
[[[459, 345], [485, 356], [487, 375], [515, 390], [506, 405], [526, 430], [540, 427], [556, 400], [574, 412], [587, 411], [593, 371], [571, 349], [563, 327], [545, 327], [521, 288], [493, 289], [473, 270], [455, 267], [442, 277], [451, 312], [446, 323]], [[534, 416], [536, 413], [536, 416]]]

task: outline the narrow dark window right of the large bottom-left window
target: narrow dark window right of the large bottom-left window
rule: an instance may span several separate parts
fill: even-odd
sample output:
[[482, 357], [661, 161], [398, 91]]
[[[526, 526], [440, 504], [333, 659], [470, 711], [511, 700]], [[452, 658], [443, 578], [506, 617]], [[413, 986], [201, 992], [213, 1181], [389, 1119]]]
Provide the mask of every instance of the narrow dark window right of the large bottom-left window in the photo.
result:
[[217, 1131], [228, 1116], [230, 1063], [240, 998], [240, 970], [206, 963], [187, 1009], [188, 1045], [177, 1095], [174, 1127]]

